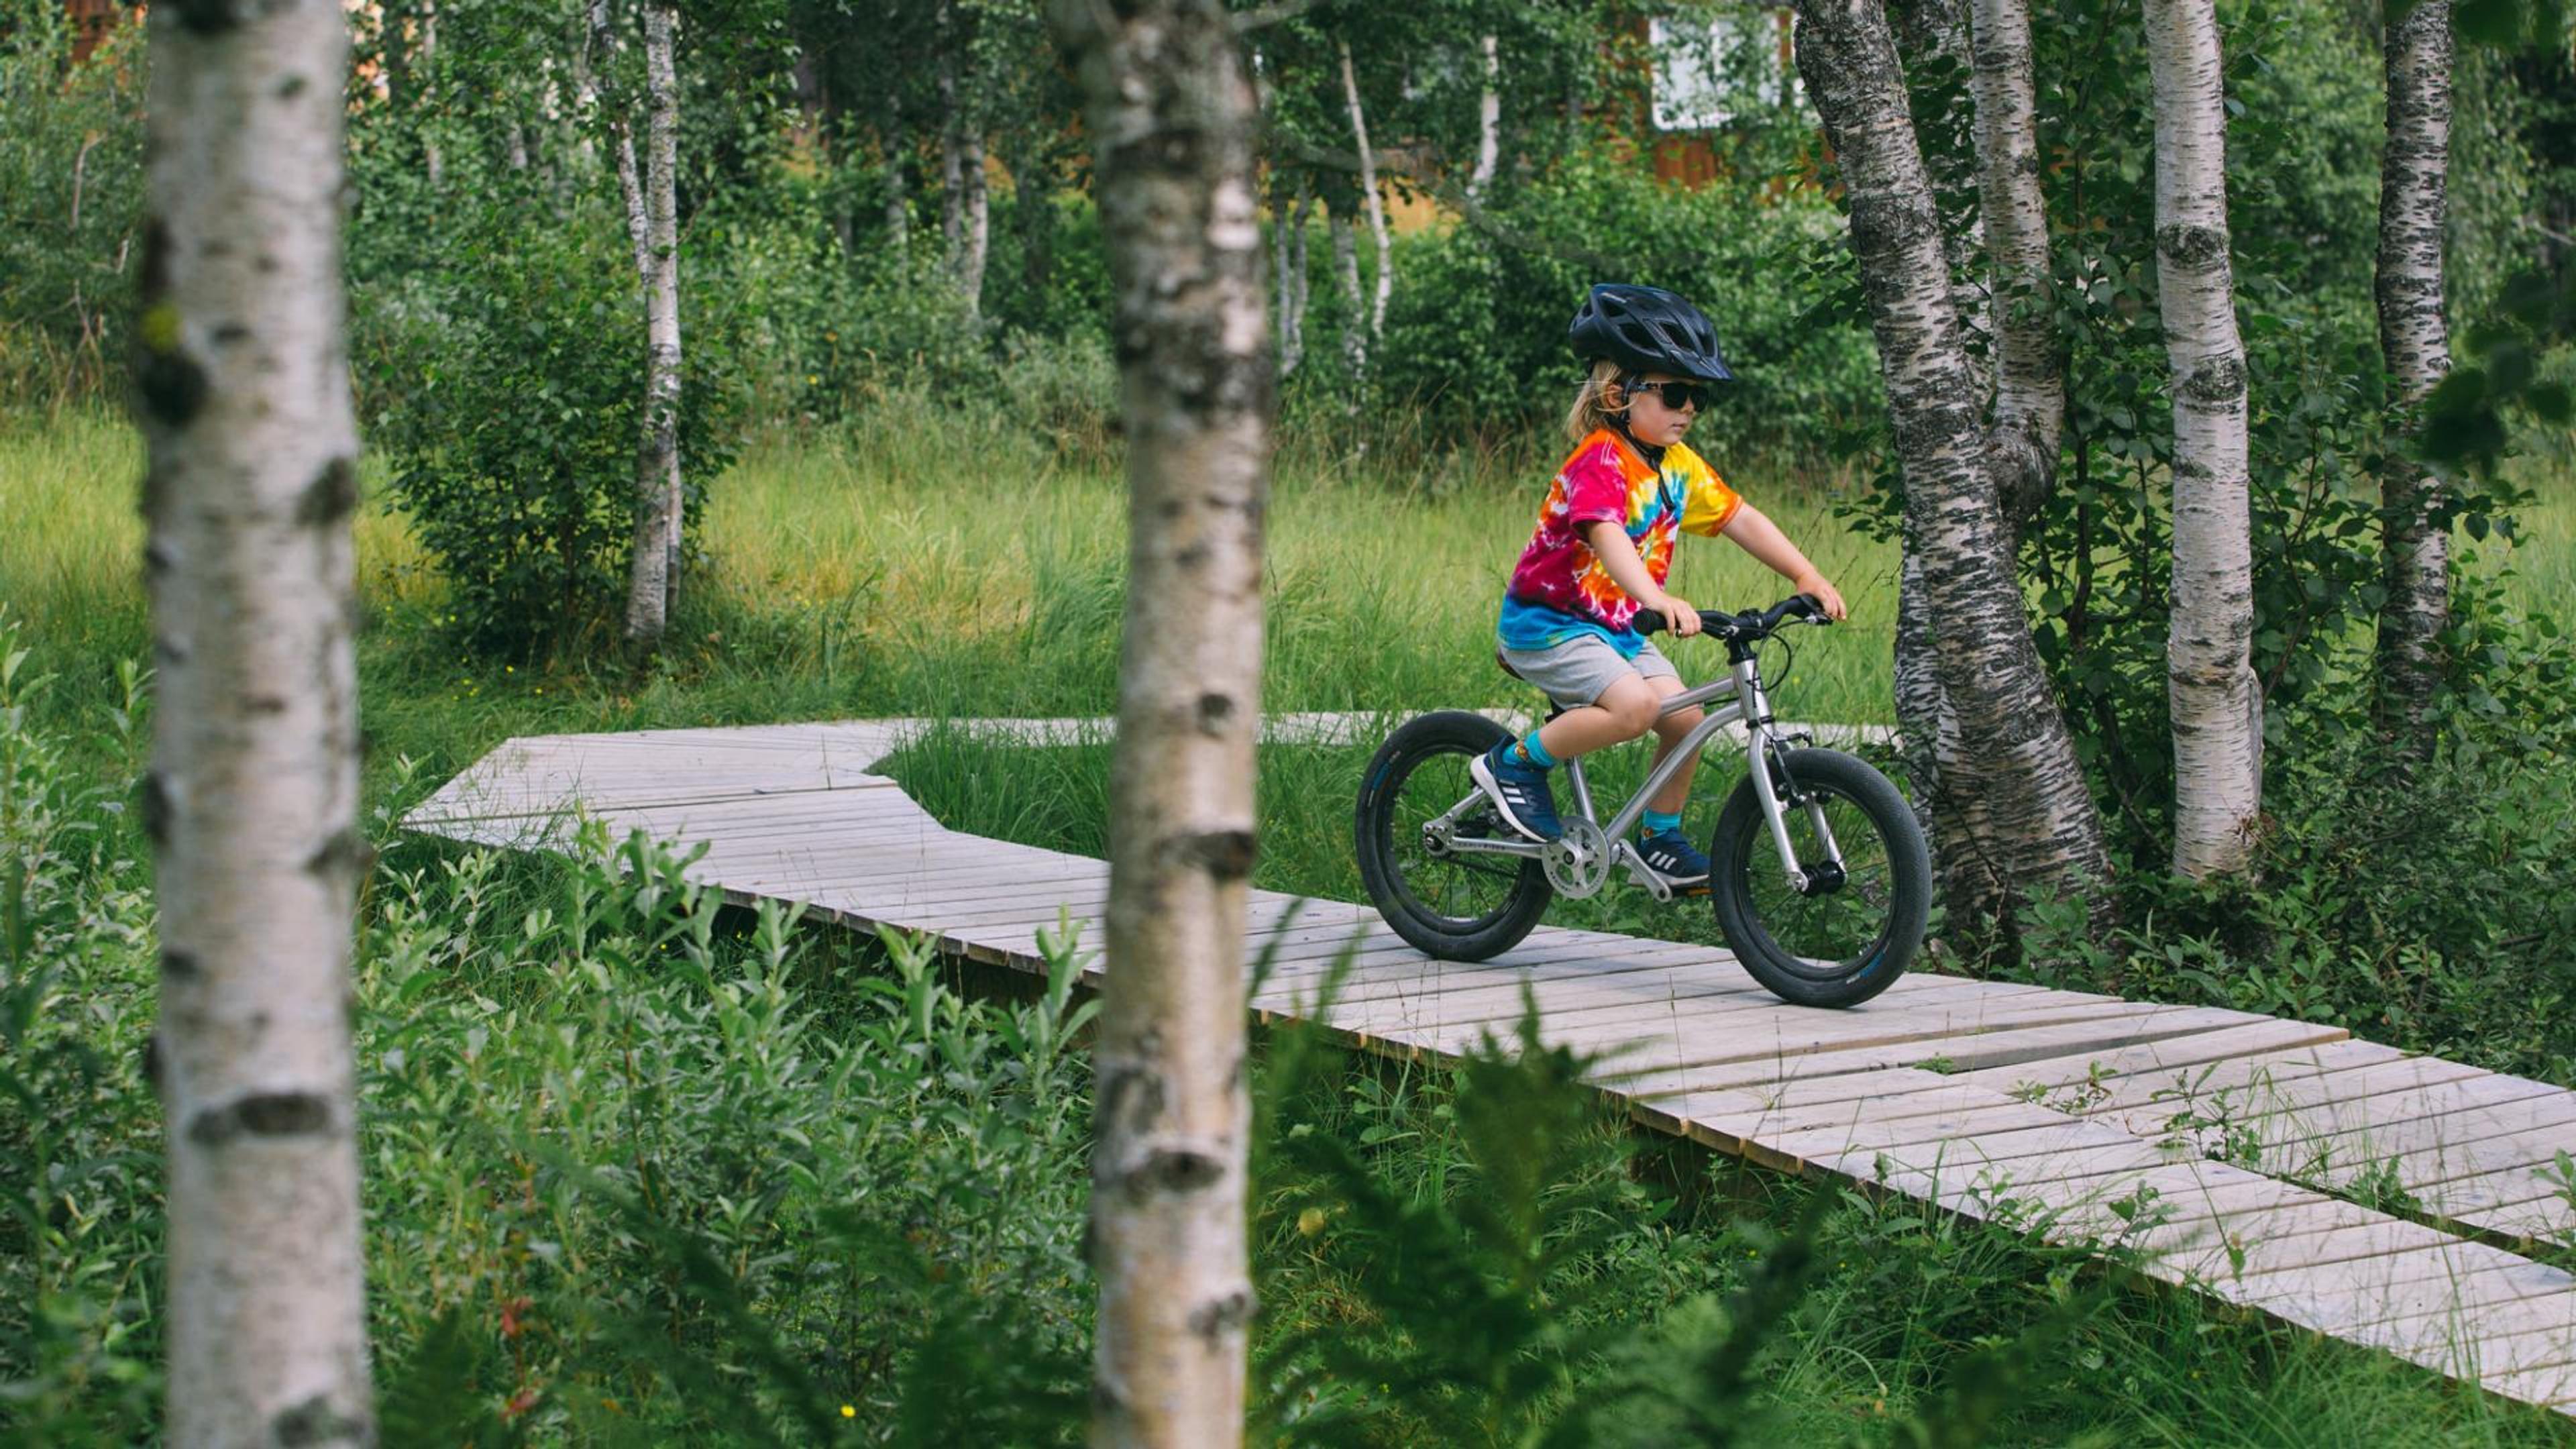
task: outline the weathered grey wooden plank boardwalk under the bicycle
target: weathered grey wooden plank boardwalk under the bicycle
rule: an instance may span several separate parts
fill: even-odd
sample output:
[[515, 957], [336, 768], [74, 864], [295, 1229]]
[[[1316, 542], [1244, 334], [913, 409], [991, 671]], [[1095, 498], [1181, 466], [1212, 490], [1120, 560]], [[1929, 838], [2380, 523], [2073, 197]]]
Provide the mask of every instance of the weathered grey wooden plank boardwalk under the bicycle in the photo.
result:
[[[1103, 722], [976, 722], [1100, 740]], [[943, 951], [1041, 969], [1038, 933], [1108, 900], [1103, 861], [940, 828], [868, 773], [920, 722], [510, 740], [407, 817], [541, 851], [574, 812], [706, 846], [693, 879], [804, 902]], [[1350, 740], [1347, 717], [1265, 735]], [[1092, 931], [1097, 941], [1097, 931]], [[1358, 959], [1329, 1008], [1316, 990]], [[1522, 985], [1553, 1042], [1656, 1129], [1811, 1176], [2125, 1250], [2146, 1274], [2576, 1415], [2576, 1276], [2509, 1243], [2576, 1243], [2576, 1093], [2244, 1011], [1909, 975], [1801, 1011], [1726, 951], [1540, 928], [1476, 967], [1396, 941], [1365, 905], [1255, 892], [1265, 1018], [1383, 1052], [1507, 1034]], [[1097, 959], [1087, 972], [1097, 982]], [[2342, 1194], [2342, 1196], [2336, 1196]], [[2352, 1199], [2403, 1204], [2375, 1212]]]

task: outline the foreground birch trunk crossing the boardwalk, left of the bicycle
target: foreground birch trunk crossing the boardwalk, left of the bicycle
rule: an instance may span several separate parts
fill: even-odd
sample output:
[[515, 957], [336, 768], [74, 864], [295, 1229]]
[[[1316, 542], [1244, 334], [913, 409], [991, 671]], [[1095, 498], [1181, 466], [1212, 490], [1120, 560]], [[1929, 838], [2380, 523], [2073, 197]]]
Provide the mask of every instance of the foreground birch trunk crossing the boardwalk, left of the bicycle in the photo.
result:
[[1242, 1441], [1244, 879], [1270, 335], [1255, 106], [1218, 0], [1056, 0], [1084, 90], [1128, 433], [1092, 1147], [1092, 1444]]

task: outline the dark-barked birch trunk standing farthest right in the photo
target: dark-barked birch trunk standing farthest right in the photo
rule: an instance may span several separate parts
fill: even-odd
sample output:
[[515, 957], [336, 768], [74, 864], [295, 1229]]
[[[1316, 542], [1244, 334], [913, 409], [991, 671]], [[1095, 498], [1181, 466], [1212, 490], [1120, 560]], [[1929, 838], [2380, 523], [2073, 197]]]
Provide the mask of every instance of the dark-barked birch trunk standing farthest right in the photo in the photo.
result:
[[[2424, 0], [2388, 26], [2388, 152], [2380, 160], [2380, 356], [2393, 420], [2450, 371], [2442, 317], [2442, 209], [2450, 175], [2450, 0]], [[2434, 637], [2450, 624], [2450, 539], [2434, 523], [2442, 482], [2388, 449], [2380, 474], [2388, 601], [2378, 629], [2378, 717], [2401, 758], [2432, 755]]]

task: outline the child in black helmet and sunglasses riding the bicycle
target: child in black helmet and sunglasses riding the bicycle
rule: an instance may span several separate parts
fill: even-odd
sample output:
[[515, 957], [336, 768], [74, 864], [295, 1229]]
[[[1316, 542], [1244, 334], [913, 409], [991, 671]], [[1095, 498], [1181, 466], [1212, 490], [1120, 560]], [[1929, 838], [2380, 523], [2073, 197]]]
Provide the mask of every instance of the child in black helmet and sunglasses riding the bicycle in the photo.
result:
[[[1577, 446], [1548, 485], [1497, 629], [1504, 668], [1543, 688], [1564, 714], [1468, 766], [1502, 817], [1533, 841], [1561, 835], [1548, 792], [1558, 761], [1646, 730], [1662, 737], [1662, 761], [1703, 719], [1698, 709], [1656, 714], [1682, 678], [1631, 627], [1641, 608], [1654, 608], [1674, 634], [1700, 632], [1700, 611], [1664, 593], [1677, 531], [1723, 534], [1793, 590], [1816, 596], [1829, 616], [1847, 616], [1842, 596], [1780, 526], [1682, 446], [1710, 384], [1734, 379], [1698, 307], [1654, 286], [1597, 284], [1569, 340], [1589, 366], [1566, 418]], [[1695, 763], [1646, 802], [1638, 841], [1646, 864], [1677, 890], [1708, 884], [1708, 856], [1682, 833]]]

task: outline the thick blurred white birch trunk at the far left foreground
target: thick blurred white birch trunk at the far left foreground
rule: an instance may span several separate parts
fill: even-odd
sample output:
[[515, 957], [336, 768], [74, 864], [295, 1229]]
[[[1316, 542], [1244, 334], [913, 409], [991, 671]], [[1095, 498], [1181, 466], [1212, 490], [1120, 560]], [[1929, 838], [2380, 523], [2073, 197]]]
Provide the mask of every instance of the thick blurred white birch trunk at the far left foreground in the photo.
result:
[[137, 407], [173, 1444], [374, 1444], [337, 5], [155, 8]]

